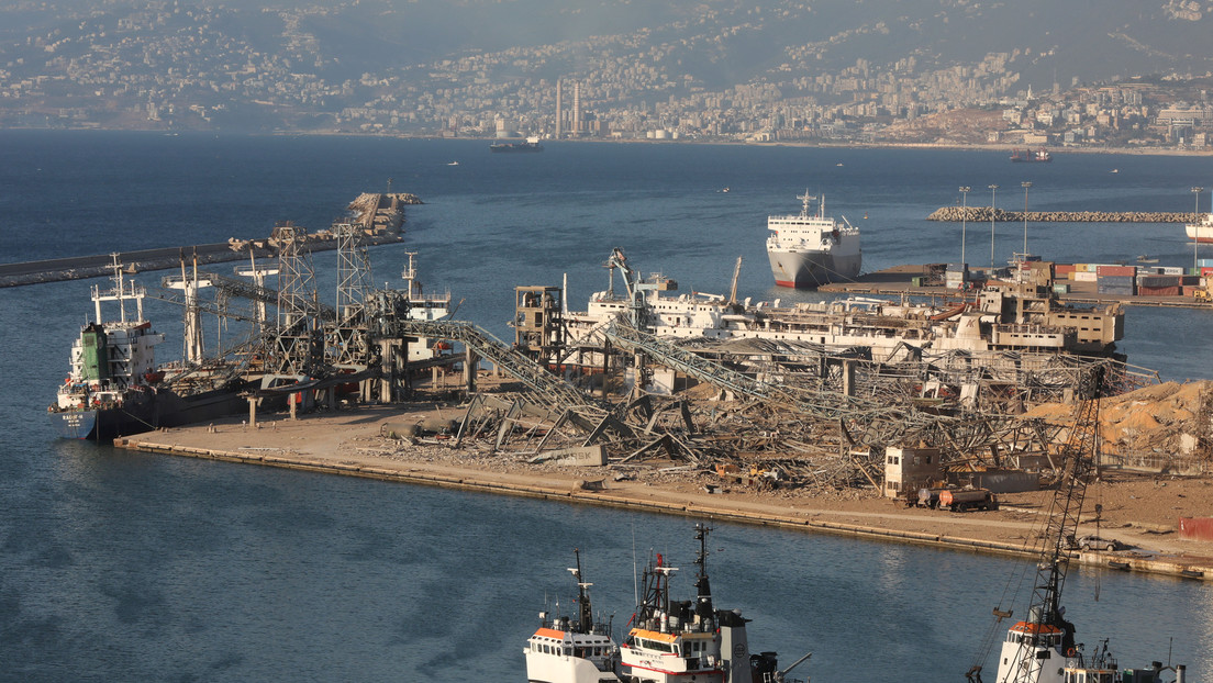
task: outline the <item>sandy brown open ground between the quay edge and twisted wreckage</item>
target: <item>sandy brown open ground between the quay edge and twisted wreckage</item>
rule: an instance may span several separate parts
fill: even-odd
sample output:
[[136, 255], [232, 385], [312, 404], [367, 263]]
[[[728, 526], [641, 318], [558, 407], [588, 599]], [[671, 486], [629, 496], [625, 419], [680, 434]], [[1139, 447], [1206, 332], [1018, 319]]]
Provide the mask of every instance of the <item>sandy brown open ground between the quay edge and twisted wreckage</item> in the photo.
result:
[[[952, 513], [907, 508], [902, 502], [878, 497], [869, 489], [808, 490], [778, 488], [757, 490], [736, 480], [668, 461], [627, 466], [569, 467], [529, 463], [529, 456], [491, 453], [491, 440], [455, 449], [451, 440], [421, 443], [380, 436], [389, 422], [415, 422], [425, 417], [456, 419], [461, 414], [438, 404], [369, 406], [303, 415], [297, 421], [268, 416], [250, 429], [243, 420], [213, 422], [142, 434], [141, 440], [244, 454], [301, 455], [360, 466], [389, 466], [409, 472], [461, 476], [506, 484], [540, 485], [571, 490], [579, 482], [603, 482], [603, 496], [615, 493], [644, 500], [694, 503], [722, 511], [745, 511], [804, 517], [838, 524], [855, 524], [900, 531], [917, 531], [962, 539], [1020, 545], [1043, 529], [1052, 491], [1006, 494], [995, 512]], [[668, 471], [666, 468], [674, 468]], [[717, 489], [708, 493], [708, 488]], [[1101, 513], [1094, 514], [1094, 506]], [[1213, 480], [1158, 478], [1104, 473], [1088, 488], [1081, 534], [1099, 534], [1132, 546], [1124, 551], [1162, 556], [1213, 557], [1213, 542], [1180, 539], [1179, 517], [1213, 516]]]

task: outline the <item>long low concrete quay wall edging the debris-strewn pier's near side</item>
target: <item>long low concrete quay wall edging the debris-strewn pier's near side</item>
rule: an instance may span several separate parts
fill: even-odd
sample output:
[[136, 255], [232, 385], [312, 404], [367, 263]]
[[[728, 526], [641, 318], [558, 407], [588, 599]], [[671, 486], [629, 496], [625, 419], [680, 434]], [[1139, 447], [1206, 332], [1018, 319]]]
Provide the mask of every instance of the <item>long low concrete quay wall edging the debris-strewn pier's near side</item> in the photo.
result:
[[[687, 517], [719, 519], [738, 522], [742, 524], [756, 524], [762, 527], [778, 527], [784, 529], [803, 529], [843, 536], [861, 537], [869, 540], [888, 540], [904, 543], [915, 543], [934, 547], [946, 547], [951, 550], [970, 550], [1014, 557], [1033, 558], [1036, 551], [1030, 551], [1023, 545], [1003, 543], [997, 541], [985, 541], [979, 539], [966, 539], [961, 536], [949, 536], [943, 534], [930, 534], [922, 531], [901, 531], [895, 529], [883, 529], [860, 524], [844, 524], [836, 522], [822, 522], [819, 519], [805, 519], [791, 514], [776, 514], [768, 512], [756, 512], [723, 506], [711, 506], [699, 502], [666, 502], [627, 495], [623, 491], [611, 489], [583, 489], [580, 486], [558, 488], [540, 484], [519, 484], [492, 479], [491, 473], [483, 477], [467, 474], [448, 476], [435, 472], [425, 472], [410, 468], [406, 463], [393, 465], [388, 462], [359, 463], [337, 462], [330, 459], [302, 456], [281, 453], [278, 449], [267, 451], [224, 451], [186, 446], [177, 444], [163, 444], [143, 440], [139, 437], [123, 437], [114, 439], [114, 446], [136, 450], [142, 453], [177, 455], [184, 457], [199, 457], [204, 460], [218, 460], [226, 462], [239, 462], [245, 465], [262, 465], [269, 467], [283, 467], [287, 469], [300, 469], [304, 472], [317, 472], [326, 474], [341, 474], [347, 477], [363, 477], [383, 482], [397, 482], [406, 484], [421, 484], [428, 486], [442, 486], [449, 489], [461, 489], [482, 493], [494, 493], [535, 497], [541, 500], [562, 501], [580, 505], [597, 505], [605, 507], [619, 507], [628, 510], [644, 510], [666, 514], [682, 514]], [[1111, 567], [1126, 571], [1140, 571], [1145, 574], [1161, 574], [1185, 579], [1213, 580], [1213, 564], [1194, 565], [1180, 560], [1154, 559], [1154, 558], [1122, 558], [1105, 556], [1099, 552], [1075, 553], [1074, 562], [1087, 565]]]

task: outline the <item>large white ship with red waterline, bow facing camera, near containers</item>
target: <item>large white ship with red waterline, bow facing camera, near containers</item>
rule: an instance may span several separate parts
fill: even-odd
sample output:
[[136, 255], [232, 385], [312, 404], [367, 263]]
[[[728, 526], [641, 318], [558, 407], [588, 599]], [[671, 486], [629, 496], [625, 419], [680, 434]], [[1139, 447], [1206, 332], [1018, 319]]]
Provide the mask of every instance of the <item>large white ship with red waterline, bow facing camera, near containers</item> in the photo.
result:
[[859, 246], [859, 228], [847, 218], [835, 220], [825, 215], [825, 197], [818, 203], [815, 215], [809, 212], [808, 192], [797, 195], [802, 200], [797, 216], [769, 216], [767, 229], [767, 256], [775, 284], [785, 288], [808, 289], [831, 281], [849, 280], [859, 275], [862, 250]]

